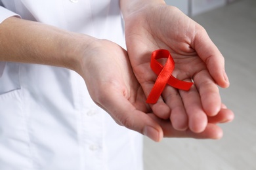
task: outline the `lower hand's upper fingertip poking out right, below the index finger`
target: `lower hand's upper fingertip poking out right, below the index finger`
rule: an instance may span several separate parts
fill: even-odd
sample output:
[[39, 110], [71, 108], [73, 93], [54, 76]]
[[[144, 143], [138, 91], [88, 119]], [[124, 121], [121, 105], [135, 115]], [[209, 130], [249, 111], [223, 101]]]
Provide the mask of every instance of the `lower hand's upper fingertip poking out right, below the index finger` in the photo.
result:
[[211, 124], [227, 123], [234, 120], [232, 110], [222, 108], [216, 116], [209, 116], [208, 122]]

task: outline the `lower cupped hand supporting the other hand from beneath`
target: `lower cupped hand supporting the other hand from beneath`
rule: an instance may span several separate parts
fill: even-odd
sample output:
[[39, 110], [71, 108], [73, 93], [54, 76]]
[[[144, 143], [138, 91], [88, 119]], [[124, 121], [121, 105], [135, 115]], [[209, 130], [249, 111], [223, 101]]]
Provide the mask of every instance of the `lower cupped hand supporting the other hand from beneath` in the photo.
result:
[[146, 96], [123, 48], [114, 42], [98, 40], [88, 45], [85, 52], [78, 72], [85, 79], [93, 101], [121, 126], [154, 141], [160, 141], [163, 136], [219, 139], [222, 131], [215, 124], [232, 119], [230, 112], [221, 110], [203, 133], [177, 131], [171, 122], [147, 114], [151, 112], [150, 106], [145, 103]]

